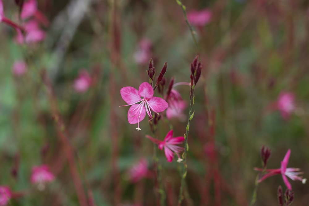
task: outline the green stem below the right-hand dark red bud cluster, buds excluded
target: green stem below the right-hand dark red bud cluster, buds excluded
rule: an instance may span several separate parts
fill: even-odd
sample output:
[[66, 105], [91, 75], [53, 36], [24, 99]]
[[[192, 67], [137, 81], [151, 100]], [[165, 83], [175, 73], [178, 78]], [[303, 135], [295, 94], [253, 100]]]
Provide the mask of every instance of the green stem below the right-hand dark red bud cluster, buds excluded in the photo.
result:
[[185, 178], [187, 176], [187, 171], [188, 171], [188, 166], [187, 166], [187, 152], [188, 152], [188, 134], [189, 134], [189, 128], [190, 128], [190, 123], [192, 120], [192, 114], [193, 114], [193, 102], [194, 102], [194, 87], [192, 89], [192, 95], [190, 99], [190, 107], [189, 107], [189, 116], [188, 116], [188, 124], [186, 128], [186, 134], [184, 135], [184, 154], [183, 154], [183, 163], [184, 163], [184, 168], [183, 168], [183, 173], [181, 177], [181, 183], [180, 183], [180, 191], [179, 191], [179, 198], [178, 198], [178, 206], [181, 205], [182, 200], [184, 199], [183, 196], [183, 191], [184, 191], [184, 185], [185, 185]]

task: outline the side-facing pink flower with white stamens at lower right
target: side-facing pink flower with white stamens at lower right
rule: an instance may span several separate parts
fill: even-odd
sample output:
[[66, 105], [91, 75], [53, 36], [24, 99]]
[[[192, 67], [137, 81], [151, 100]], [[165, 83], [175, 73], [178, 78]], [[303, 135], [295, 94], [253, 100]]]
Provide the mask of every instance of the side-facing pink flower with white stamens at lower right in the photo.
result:
[[[291, 186], [289, 180], [287, 179], [287, 177], [289, 177], [293, 181], [299, 180], [299, 181], [302, 181], [303, 184], [306, 183], [307, 179], [303, 179], [302, 176], [298, 176], [299, 174], [303, 174], [303, 172], [300, 172], [299, 168], [286, 168], [286, 166], [289, 162], [290, 154], [291, 154], [291, 150], [289, 149], [286, 152], [286, 156], [284, 156], [283, 161], [281, 161], [281, 167], [278, 168], [278, 169], [267, 169], [267, 170], [265, 170], [268, 173], [265, 174], [261, 179], [259, 179], [258, 182], [260, 183], [263, 180], [265, 180], [266, 178], [269, 178], [269, 177], [274, 176], [276, 174], [281, 174], [283, 182], [285, 183], [286, 187], [289, 190], [292, 190], [292, 186]], [[257, 171], [263, 171], [263, 169], [260, 169], [260, 168], [254, 168], [254, 169], [257, 170]]]

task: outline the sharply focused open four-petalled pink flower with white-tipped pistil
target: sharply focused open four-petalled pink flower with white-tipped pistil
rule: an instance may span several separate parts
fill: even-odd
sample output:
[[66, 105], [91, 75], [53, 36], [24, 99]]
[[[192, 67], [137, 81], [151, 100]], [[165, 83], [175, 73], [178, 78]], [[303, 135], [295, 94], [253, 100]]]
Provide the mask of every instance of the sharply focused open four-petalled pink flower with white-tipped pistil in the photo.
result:
[[123, 87], [120, 90], [120, 94], [122, 99], [128, 103], [120, 107], [132, 105], [128, 111], [128, 121], [130, 124], [138, 123], [137, 130], [141, 130], [139, 122], [145, 118], [146, 112], [150, 119], [152, 119], [151, 111], [158, 113], [166, 110], [168, 107], [168, 103], [164, 99], [153, 96], [154, 90], [148, 82], [143, 82], [138, 90], [132, 86]]

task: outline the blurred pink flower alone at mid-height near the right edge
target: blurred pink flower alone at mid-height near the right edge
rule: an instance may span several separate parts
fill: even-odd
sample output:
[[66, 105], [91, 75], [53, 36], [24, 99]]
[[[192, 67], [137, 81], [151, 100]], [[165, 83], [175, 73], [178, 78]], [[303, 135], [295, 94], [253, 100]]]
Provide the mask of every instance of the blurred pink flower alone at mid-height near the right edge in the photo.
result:
[[284, 119], [288, 119], [290, 114], [295, 110], [295, 95], [293, 93], [283, 92], [277, 100], [277, 108]]

